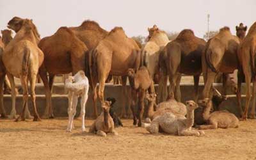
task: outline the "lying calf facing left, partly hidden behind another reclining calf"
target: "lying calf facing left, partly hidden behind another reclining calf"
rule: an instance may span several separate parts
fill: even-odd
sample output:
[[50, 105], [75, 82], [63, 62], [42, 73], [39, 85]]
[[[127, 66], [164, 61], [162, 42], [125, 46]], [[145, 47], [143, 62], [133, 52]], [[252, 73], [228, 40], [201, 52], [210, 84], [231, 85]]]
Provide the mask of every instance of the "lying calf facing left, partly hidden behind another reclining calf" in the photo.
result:
[[146, 96], [148, 100], [148, 118], [146, 122], [151, 122], [159, 115], [163, 115], [166, 112], [172, 112], [174, 115], [185, 116], [187, 114], [186, 106], [183, 103], [177, 102], [175, 99], [169, 99], [157, 104], [156, 111], [154, 111], [154, 105], [156, 105], [156, 94], [151, 93]]

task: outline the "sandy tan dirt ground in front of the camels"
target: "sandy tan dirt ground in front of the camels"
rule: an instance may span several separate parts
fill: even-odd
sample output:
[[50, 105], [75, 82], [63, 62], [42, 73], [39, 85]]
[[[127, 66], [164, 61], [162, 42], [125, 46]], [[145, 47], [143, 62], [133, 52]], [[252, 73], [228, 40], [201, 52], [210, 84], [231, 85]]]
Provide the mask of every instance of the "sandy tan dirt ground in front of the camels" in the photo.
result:
[[118, 136], [88, 133], [93, 120], [66, 132], [67, 118], [42, 122], [0, 120], [0, 159], [256, 159], [256, 120], [238, 129], [205, 131], [205, 136], [148, 134], [123, 120]]

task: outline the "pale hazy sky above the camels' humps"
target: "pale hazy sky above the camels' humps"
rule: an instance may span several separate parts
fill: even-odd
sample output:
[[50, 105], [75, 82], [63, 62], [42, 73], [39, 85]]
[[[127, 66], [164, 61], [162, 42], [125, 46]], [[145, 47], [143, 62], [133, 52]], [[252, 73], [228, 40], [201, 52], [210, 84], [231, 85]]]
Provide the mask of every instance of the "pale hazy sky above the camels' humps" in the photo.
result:
[[256, 20], [256, 0], [0, 0], [0, 29], [12, 17], [33, 19], [41, 38], [52, 35], [60, 26], [79, 26], [83, 20], [97, 21], [110, 31], [122, 26], [128, 36], [147, 36], [154, 24], [165, 31], [193, 29], [202, 37], [210, 30], [235, 26], [243, 22], [250, 27]]

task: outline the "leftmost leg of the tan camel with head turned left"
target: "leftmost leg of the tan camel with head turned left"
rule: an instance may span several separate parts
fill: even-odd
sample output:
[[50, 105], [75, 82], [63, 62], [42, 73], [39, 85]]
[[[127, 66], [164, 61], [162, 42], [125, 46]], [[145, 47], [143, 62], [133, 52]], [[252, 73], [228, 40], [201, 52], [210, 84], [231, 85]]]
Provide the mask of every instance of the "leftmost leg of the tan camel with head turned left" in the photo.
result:
[[15, 103], [16, 103], [16, 92], [15, 92], [15, 81], [14, 81], [14, 77], [12, 76], [12, 74], [8, 74], [8, 79], [11, 83], [11, 88], [12, 88], [12, 111], [10, 113], [10, 118], [17, 118], [16, 116], [16, 109], [15, 109]]

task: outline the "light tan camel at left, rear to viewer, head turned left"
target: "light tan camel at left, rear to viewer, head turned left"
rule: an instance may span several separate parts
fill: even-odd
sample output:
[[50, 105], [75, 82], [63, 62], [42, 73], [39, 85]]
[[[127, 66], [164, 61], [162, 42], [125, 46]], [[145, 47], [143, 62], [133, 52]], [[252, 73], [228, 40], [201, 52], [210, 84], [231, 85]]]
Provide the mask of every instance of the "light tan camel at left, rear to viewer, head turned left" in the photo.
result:
[[13, 40], [6, 46], [3, 52], [2, 60], [6, 68], [6, 74], [10, 80], [12, 87], [12, 112], [11, 116], [16, 115], [15, 111], [15, 82], [14, 77], [20, 78], [23, 90], [23, 106], [22, 113], [17, 117], [25, 120], [26, 105], [28, 103], [28, 81], [31, 86], [31, 100], [34, 111], [34, 121], [40, 120], [36, 111], [35, 83], [38, 68], [44, 61], [44, 54], [38, 48], [37, 44], [40, 35], [32, 20], [13, 17], [8, 22], [8, 28], [13, 29], [17, 34]]

